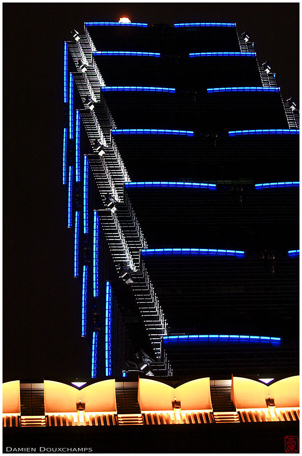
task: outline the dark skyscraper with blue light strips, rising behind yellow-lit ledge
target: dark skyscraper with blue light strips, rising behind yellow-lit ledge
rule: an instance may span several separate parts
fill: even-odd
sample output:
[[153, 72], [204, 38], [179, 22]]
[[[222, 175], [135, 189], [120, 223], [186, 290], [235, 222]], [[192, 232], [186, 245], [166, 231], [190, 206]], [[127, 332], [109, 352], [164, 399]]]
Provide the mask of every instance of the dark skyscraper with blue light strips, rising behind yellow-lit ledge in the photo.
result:
[[91, 377], [296, 374], [298, 111], [247, 34], [85, 23], [63, 71]]

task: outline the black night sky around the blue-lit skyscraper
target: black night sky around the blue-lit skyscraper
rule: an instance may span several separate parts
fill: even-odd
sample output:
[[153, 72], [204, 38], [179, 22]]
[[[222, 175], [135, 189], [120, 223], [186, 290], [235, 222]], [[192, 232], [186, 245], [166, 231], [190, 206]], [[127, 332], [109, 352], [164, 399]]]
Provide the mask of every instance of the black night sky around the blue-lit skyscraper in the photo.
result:
[[235, 22], [298, 99], [297, 3], [3, 5], [3, 381], [89, 377], [61, 183], [63, 43], [86, 21]]

